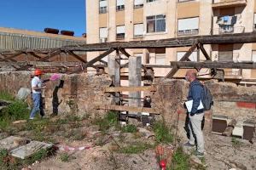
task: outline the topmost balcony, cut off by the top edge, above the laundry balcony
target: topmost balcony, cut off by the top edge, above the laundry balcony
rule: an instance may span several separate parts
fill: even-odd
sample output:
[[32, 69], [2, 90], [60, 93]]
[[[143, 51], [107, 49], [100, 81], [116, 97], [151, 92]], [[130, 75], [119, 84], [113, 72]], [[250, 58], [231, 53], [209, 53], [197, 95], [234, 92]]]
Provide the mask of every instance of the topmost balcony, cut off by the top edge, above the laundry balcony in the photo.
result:
[[214, 0], [212, 8], [242, 7], [247, 5], [247, 0]]

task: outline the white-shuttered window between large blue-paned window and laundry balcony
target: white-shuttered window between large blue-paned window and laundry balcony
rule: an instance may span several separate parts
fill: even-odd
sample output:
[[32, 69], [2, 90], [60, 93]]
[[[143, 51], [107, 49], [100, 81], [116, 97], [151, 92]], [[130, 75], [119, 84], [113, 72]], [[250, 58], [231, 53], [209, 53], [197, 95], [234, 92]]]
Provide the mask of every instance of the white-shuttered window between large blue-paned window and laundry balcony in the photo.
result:
[[177, 20], [177, 35], [198, 34], [199, 18]]

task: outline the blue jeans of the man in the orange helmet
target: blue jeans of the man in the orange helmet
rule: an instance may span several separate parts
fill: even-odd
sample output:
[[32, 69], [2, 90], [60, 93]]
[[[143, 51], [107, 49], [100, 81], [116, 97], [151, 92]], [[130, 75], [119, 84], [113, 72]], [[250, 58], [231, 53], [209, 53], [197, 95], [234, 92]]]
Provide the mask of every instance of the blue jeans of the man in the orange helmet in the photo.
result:
[[40, 111], [41, 116], [44, 116], [42, 94], [32, 94], [32, 99], [33, 99], [33, 108], [30, 113], [30, 117], [36, 116], [38, 111]]

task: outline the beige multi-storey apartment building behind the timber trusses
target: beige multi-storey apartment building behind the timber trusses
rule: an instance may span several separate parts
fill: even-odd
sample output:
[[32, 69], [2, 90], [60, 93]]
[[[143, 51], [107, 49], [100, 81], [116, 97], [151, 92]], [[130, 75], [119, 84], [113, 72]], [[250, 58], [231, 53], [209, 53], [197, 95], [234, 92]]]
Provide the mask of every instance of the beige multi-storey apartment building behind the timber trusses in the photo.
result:
[[[127, 42], [172, 37], [232, 34], [256, 30], [256, 0], [87, 0], [87, 43]], [[212, 60], [254, 61], [256, 43], [205, 45]], [[143, 64], [169, 65], [189, 48], [132, 49]], [[94, 58], [99, 52], [88, 54]], [[192, 61], [203, 60], [195, 51]], [[156, 77], [168, 69], [154, 69]], [[207, 70], [202, 70], [207, 72]], [[179, 71], [176, 77], [183, 77]], [[256, 78], [256, 71], [225, 70], [226, 77]]]

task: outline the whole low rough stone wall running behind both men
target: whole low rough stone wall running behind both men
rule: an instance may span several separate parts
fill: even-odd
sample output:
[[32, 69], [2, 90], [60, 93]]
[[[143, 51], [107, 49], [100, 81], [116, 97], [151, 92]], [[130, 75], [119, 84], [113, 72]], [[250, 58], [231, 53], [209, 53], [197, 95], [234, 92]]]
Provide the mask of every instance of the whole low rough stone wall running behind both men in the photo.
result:
[[[44, 78], [49, 75], [44, 75]], [[103, 88], [111, 85], [108, 75], [95, 76], [89, 74], [63, 75], [61, 81], [48, 82], [44, 92], [45, 111], [52, 114], [90, 114], [101, 113], [96, 111], [96, 105], [112, 104], [110, 94], [104, 94]], [[17, 94], [20, 88], [30, 88], [29, 71], [0, 72], [0, 90]], [[230, 82], [204, 82], [211, 90], [214, 106], [212, 112], [207, 112], [207, 120], [212, 120], [212, 114], [236, 118], [237, 121], [256, 120], [256, 87], [239, 87]], [[180, 120], [184, 121], [186, 111], [183, 103], [186, 100], [189, 83], [184, 80], [155, 79], [157, 91], [151, 93], [152, 106], [157, 108], [161, 116], [169, 124], [177, 121], [177, 112]]]

